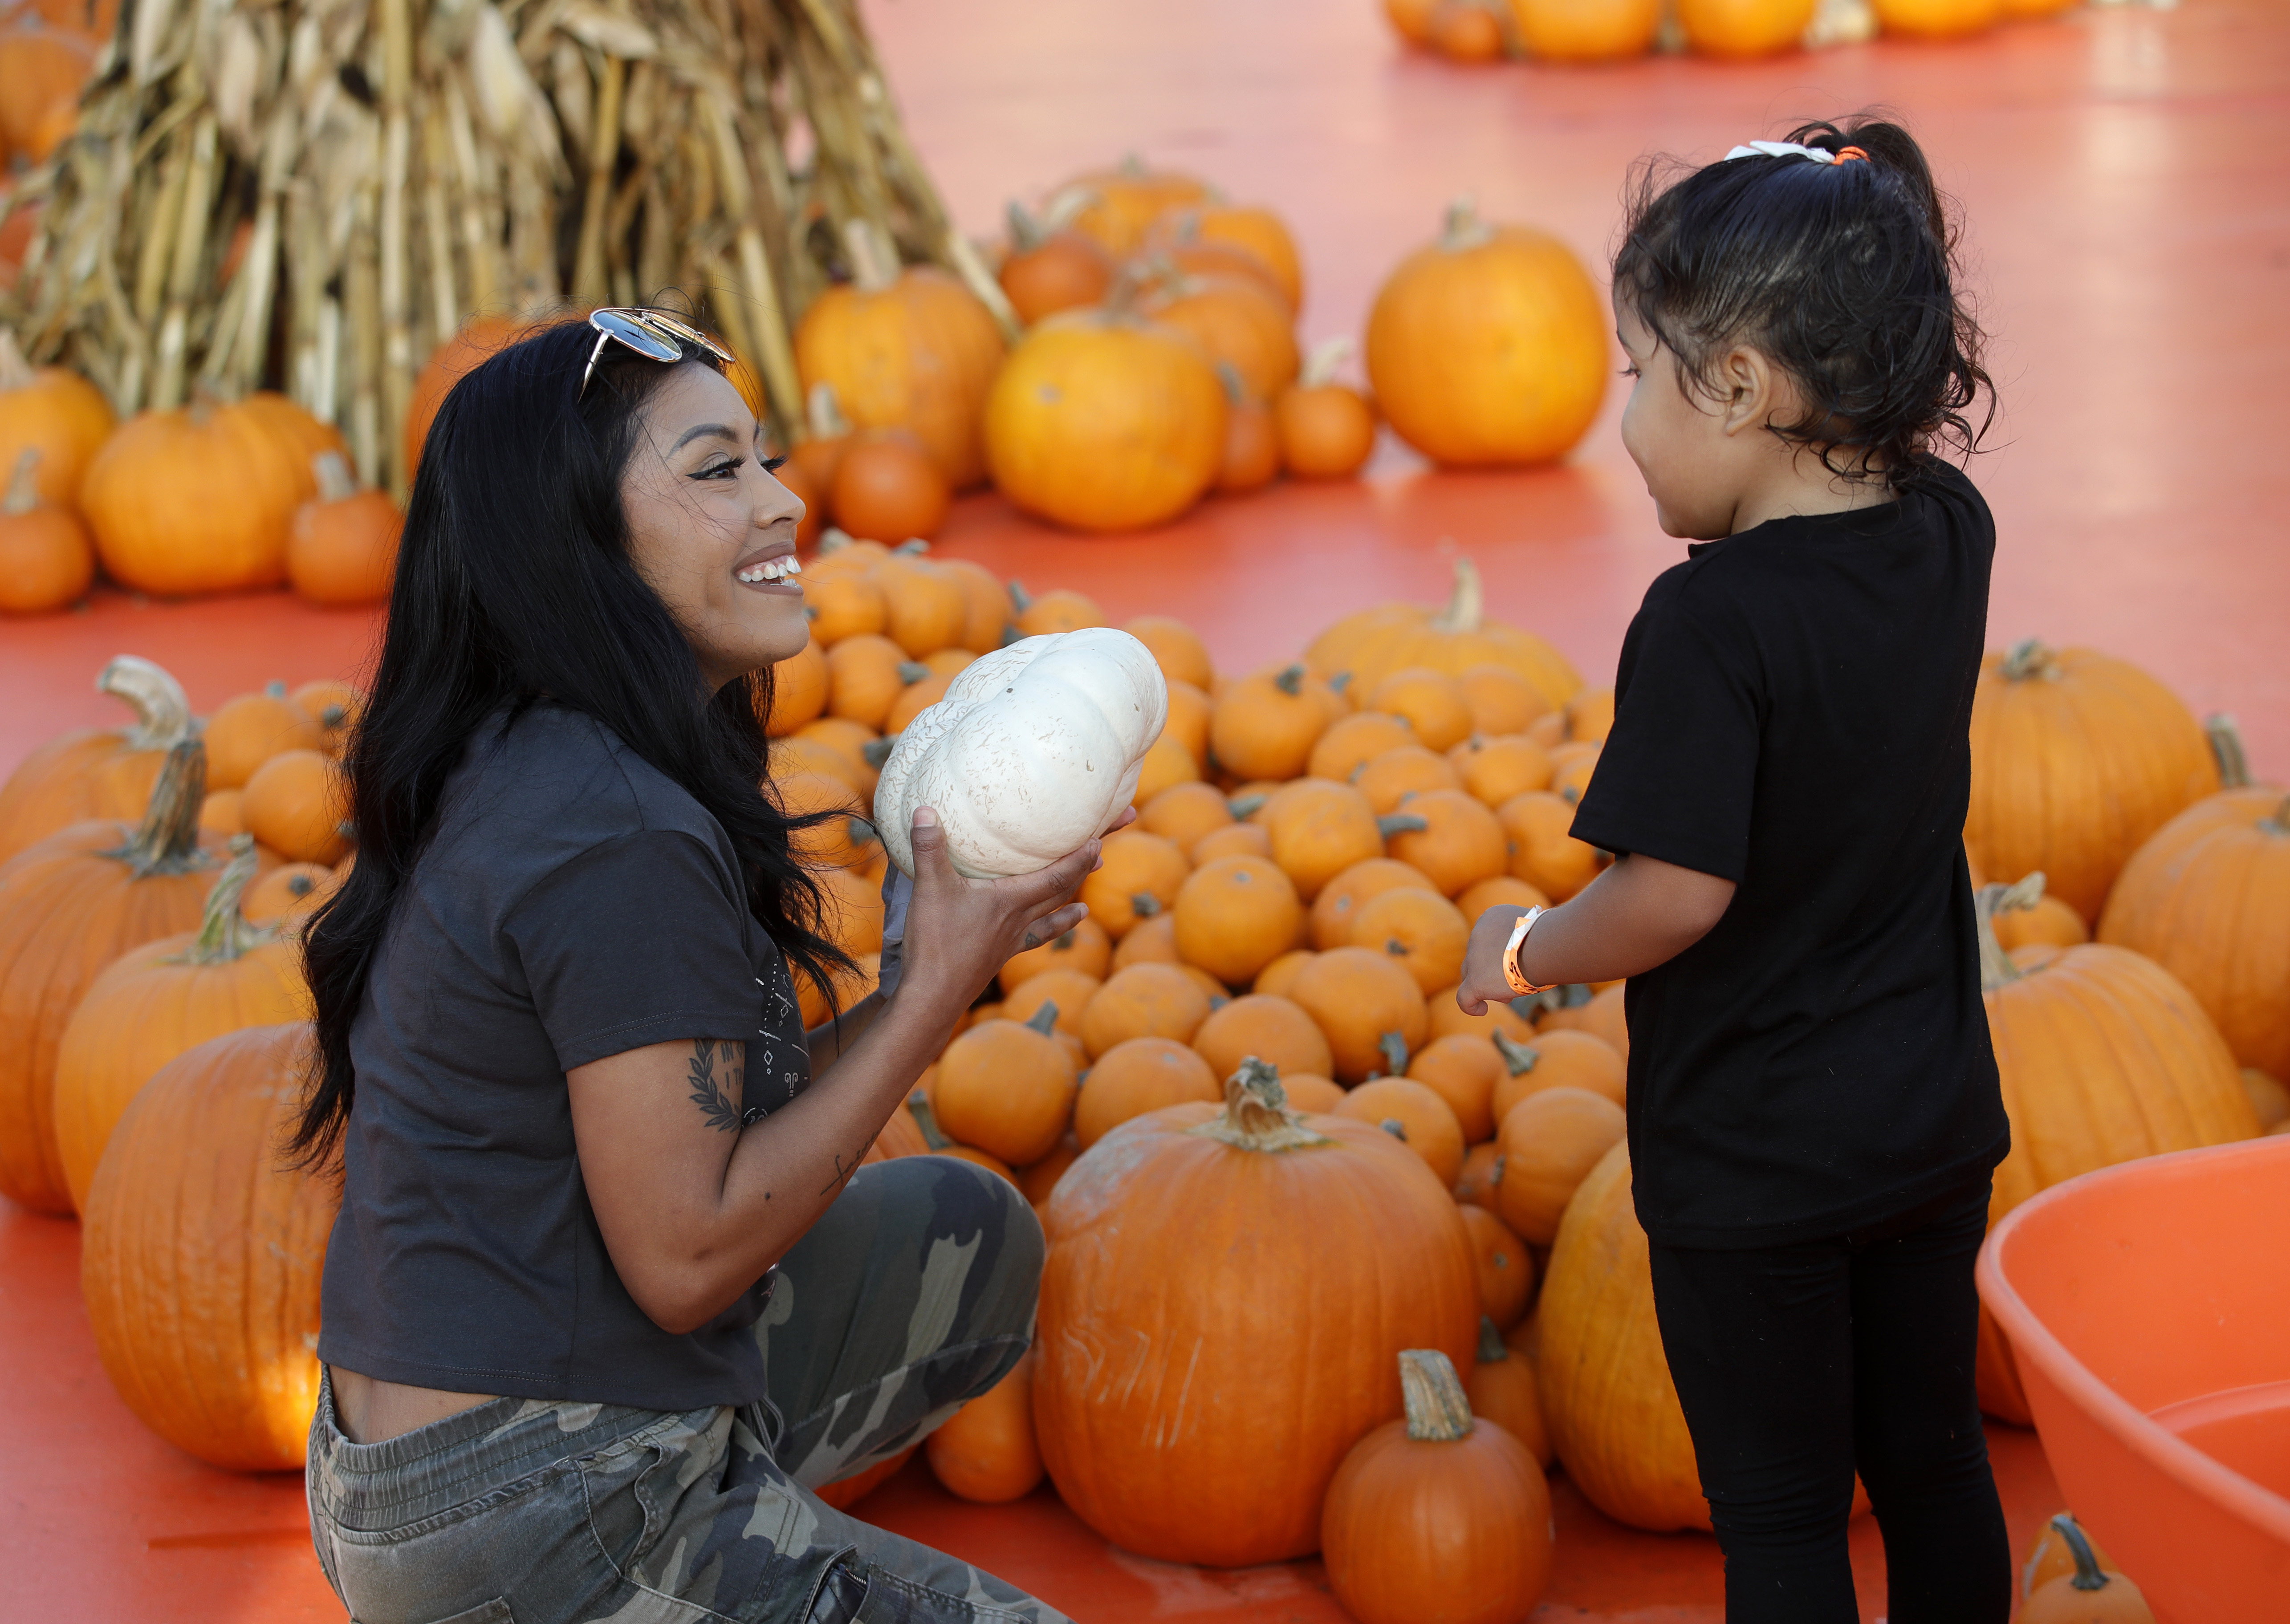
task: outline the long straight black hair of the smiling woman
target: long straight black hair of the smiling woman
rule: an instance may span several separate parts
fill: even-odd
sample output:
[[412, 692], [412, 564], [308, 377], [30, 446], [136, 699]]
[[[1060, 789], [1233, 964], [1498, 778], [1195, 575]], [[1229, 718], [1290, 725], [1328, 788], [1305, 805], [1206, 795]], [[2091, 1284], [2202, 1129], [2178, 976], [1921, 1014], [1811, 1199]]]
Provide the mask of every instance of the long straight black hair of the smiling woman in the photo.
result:
[[[488, 357], [437, 410], [398, 545], [389, 625], [364, 717], [344, 751], [357, 864], [309, 921], [302, 960], [318, 1056], [289, 1143], [334, 1159], [357, 1079], [350, 1022], [447, 776], [502, 708], [543, 694], [582, 710], [680, 783], [731, 836], [747, 907], [824, 990], [850, 957], [820, 935], [820, 889], [788, 845], [806, 818], [763, 793], [769, 671], [712, 699], [698, 657], [627, 554], [621, 472], [643, 405], [676, 364], [556, 323]], [[685, 366], [714, 364], [685, 350]]]

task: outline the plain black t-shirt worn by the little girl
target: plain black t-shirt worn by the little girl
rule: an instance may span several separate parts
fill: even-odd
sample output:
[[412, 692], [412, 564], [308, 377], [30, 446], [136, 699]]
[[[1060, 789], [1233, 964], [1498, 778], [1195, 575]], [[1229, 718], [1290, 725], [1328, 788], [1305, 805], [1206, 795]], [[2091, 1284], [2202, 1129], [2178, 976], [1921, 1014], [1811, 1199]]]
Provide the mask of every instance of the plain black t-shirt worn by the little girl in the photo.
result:
[[1841, 1232], [2004, 1157], [1963, 854], [1992, 557], [1988, 504], [1937, 467], [1647, 589], [1573, 834], [1738, 886], [1626, 994], [1656, 1241]]

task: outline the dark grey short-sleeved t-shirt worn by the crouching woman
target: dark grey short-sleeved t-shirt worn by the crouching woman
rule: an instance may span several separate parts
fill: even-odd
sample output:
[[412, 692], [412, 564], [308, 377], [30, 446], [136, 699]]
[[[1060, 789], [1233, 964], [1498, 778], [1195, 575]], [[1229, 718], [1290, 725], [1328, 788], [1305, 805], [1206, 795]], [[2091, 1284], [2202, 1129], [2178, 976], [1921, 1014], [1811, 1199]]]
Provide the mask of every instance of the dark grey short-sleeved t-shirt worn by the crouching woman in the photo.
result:
[[662, 1331], [605, 1253], [572, 1145], [566, 1072], [680, 1038], [747, 1044], [747, 1115], [811, 1077], [795, 987], [721, 825], [582, 712], [492, 717], [350, 1026], [318, 1358], [453, 1393], [760, 1400], [749, 1326], [767, 1287], [689, 1335]]

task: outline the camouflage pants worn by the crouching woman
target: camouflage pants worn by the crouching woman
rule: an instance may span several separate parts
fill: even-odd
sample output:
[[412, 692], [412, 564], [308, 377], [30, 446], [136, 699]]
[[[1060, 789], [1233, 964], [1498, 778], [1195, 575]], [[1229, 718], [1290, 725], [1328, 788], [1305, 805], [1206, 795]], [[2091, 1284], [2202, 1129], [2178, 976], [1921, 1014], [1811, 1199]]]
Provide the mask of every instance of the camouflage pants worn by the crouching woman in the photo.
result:
[[309, 1521], [357, 1624], [1058, 1624], [811, 1489], [918, 1441], [1026, 1351], [1042, 1230], [948, 1157], [859, 1170], [779, 1267], [767, 1404], [490, 1400], [350, 1443], [323, 1393]]

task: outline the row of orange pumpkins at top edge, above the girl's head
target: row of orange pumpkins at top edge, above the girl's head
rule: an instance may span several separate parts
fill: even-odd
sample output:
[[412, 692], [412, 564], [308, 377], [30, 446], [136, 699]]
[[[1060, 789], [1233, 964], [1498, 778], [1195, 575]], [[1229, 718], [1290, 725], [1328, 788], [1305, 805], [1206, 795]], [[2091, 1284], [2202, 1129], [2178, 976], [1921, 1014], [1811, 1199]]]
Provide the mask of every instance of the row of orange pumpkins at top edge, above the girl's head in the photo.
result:
[[2079, 0], [1383, 0], [1411, 46], [1450, 62], [1619, 62], [1690, 50], [1745, 62], [1882, 34], [1963, 39]]

